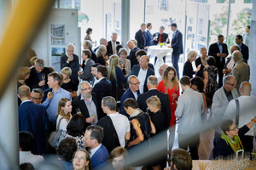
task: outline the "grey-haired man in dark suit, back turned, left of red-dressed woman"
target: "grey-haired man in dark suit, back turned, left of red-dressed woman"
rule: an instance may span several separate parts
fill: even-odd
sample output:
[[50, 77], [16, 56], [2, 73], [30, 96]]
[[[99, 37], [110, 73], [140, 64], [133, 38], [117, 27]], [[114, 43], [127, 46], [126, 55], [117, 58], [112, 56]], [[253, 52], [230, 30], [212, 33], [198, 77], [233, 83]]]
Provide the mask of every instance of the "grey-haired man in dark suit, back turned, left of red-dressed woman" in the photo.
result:
[[142, 111], [146, 112], [148, 108], [146, 104], [146, 100], [151, 96], [156, 95], [160, 99], [161, 111], [166, 116], [165, 127], [168, 128], [171, 121], [171, 109], [170, 109], [169, 96], [168, 94], [163, 94], [160, 91], [158, 91], [156, 89], [157, 85], [158, 85], [157, 77], [154, 77], [154, 76], [148, 77], [148, 83], [147, 83], [148, 92], [144, 94], [140, 94], [137, 97], [137, 105]]

